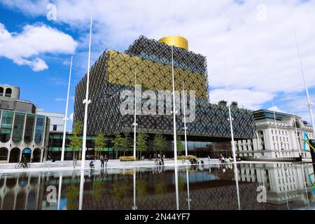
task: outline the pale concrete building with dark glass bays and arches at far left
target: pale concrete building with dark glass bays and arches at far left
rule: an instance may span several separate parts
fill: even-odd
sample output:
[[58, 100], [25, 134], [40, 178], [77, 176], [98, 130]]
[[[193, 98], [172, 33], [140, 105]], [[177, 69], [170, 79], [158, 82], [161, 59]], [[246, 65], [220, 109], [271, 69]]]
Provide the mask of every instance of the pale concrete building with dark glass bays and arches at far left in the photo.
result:
[[18, 162], [22, 157], [41, 162], [48, 148], [50, 120], [19, 97], [18, 87], [0, 85], [0, 162]]

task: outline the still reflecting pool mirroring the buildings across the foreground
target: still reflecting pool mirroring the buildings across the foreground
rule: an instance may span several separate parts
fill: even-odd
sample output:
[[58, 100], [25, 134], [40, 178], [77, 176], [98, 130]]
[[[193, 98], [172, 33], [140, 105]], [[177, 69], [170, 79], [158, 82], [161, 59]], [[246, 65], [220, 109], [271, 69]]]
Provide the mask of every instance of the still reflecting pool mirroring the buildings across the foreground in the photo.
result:
[[314, 209], [311, 164], [197, 165], [0, 176], [0, 209]]

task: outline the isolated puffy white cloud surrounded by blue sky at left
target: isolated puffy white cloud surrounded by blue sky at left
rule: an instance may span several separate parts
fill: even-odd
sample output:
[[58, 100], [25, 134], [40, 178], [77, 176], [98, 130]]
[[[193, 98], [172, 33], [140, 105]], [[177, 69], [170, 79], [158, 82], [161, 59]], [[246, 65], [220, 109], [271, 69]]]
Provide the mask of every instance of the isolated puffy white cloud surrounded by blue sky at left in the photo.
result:
[[45, 53], [71, 54], [77, 43], [68, 34], [43, 24], [25, 25], [21, 33], [10, 33], [0, 23], [0, 57], [12, 59], [15, 64], [28, 65], [33, 71], [48, 69], [38, 55]]

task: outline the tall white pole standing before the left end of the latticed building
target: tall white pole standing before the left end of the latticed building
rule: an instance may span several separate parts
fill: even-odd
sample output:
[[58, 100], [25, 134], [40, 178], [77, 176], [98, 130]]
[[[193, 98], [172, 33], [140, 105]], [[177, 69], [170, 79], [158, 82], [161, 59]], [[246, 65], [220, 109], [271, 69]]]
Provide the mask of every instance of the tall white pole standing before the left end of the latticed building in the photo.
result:
[[90, 57], [91, 57], [91, 38], [92, 38], [92, 17], [90, 23], [90, 44], [89, 44], [89, 56], [87, 60], [87, 80], [86, 80], [86, 94], [83, 104], [85, 104], [84, 112], [84, 126], [83, 126], [83, 146], [82, 146], [82, 160], [81, 169], [85, 167], [85, 151], [86, 151], [86, 132], [87, 132], [87, 106], [90, 104], [89, 100], [89, 82], [90, 82]]

